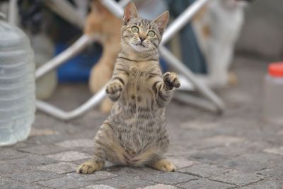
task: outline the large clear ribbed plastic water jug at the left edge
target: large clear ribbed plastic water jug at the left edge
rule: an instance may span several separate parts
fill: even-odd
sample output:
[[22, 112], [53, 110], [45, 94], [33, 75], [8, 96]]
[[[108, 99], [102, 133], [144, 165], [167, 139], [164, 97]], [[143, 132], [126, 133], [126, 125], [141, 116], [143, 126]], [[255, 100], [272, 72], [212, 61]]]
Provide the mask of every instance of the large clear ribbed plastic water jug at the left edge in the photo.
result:
[[28, 138], [35, 118], [35, 63], [27, 36], [0, 16], [0, 146]]

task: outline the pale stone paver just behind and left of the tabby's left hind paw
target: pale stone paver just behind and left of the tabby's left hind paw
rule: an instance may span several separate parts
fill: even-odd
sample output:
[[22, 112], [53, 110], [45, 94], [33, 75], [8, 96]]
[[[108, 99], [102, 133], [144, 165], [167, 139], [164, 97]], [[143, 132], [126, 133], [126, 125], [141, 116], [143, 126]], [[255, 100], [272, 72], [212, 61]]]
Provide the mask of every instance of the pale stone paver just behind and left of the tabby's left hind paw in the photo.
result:
[[56, 159], [58, 161], [76, 161], [80, 159], [91, 158], [90, 155], [81, 153], [79, 151], [65, 151], [59, 154], [48, 155], [48, 158]]

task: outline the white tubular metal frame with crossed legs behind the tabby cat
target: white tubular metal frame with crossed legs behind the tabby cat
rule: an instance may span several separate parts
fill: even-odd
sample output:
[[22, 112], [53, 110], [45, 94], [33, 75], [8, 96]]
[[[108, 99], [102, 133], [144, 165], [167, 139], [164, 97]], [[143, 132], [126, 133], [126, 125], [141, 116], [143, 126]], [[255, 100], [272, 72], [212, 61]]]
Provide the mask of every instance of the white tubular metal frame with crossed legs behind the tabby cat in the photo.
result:
[[[120, 4], [117, 4], [113, 0], [100, 0], [101, 3], [107, 7], [115, 16], [122, 17], [123, 9], [120, 6]], [[123, 4], [127, 3], [128, 0], [123, 0]], [[197, 91], [200, 91], [200, 93], [203, 94], [205, 98], [207, 98], [209, 101], [205, 101], [202, 98], [198, 98], [195, 96], [191, 96], [190, 94], [182, 94], [177, 93], [174, 97], [178, 98], [180, 101], [184, 101], [185, 103], [190, 103], [192, 105], [197, 105], [200, 108], [204, 108], [207, 110], [211, 110], [216, 113], [221, 113], [224, 110], [224, 103], [221, 101], [221, 99], [216, 96], [216, 94], [206, 85], [202, 84], [200, 81], [198, 81], [195, 78], [195, 75], [185, 67], [185, 65], [177, 59], [166, 47], [163, 46], [170, 38], [175, 35], [181, 28], [183, 28], [184, 25], [186, 25], [192, 16], [197, 13], [197, 11], [204, 6], [209, 0], [197, 0], [195, 1], [192, 6], [188, 7], [178, 18], [171, 23], [171, 25], [168, 26], [165, 33], [163, 34], [163, 40], [161, 42], [161, 45], [159, 46], [159, 52], [161, 56], [166, 59], [166, 62], [173, 67], [176, 71], [180, 72], [180, 74], [183, 74], [185, 76], [185, 79], [187, 81], [191, 82], [192, 85], [195, 87]], [[56, 4], [57, 1], [53, 1], [54, 4]], [[82, 35], [79, 40], [77, 40], [74, 45], [71, 45], [67, 50], [62, 52], [61, 54], [57, 55], [57, 57], [54, 57], [46, 64], [42, 65], [42, 67], [38, 68], [36, 70], [36, 79], [40, 78], [40, 76], [43, 76], [47, 72], [51, 71], [52, 69], [58, 67], [60, 64], [63, 64], [67, 59], [73, 57], [78, 52], [80, 52], [83, 47], [86, 47], [90, 42], [96, 41], [96, 36], [88, 36], [88, 35]], [[79, 115], [82, 115], [83, 113], [86, 113], [86, 111], [90, 110], [94, 106], [98, 105], [100, 101], [105, 98], [105, 87], [102, 88], [98, 93], [93, 95], [86, 103], [83, 103], [83, 105], [79, 106], [79, 108], [76, 108], [75, 110], [72, 110], [70, 112], [65, 112], [64, 110], [61, 110], [53, 105], [50, 105], [49, 103], [45, 103], [43, 101], [37, 101], [37, 109], [42, 110], [43, 112], [54, 116], [55, 118], [58, 118], [60, 120], [70, 120], [72, 118], [76, 118]]]

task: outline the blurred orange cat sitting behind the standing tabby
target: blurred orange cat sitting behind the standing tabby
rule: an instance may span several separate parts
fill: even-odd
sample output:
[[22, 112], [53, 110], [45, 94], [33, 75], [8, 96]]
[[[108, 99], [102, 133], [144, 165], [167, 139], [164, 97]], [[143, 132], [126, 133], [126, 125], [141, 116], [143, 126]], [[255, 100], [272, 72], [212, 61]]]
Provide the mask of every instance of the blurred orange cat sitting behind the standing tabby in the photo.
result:
[[[111, 79], [118, 53], [121, 51], [120, 29], [122, 20], [114, 16], [100, 1], [92, 2], [91, 13], [86, 18], [84, 33], [100, 35], [99, 42], [103, 45], [103, 54], [91, 69], [89, 87], [91, 93], [98, 92]], [[103, 113], [109, 113], [112, 102], [105, 98], [100, 105]]]

